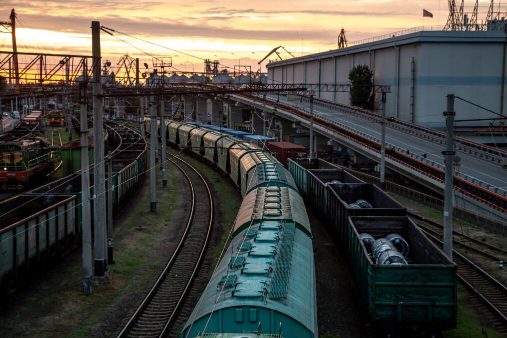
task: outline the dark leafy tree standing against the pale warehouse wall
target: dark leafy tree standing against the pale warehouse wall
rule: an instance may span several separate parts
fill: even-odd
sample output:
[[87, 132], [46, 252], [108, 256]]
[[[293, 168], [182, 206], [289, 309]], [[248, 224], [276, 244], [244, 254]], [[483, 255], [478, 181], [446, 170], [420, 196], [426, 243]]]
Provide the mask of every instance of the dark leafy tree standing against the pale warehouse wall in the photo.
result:
[[373, 72], [366, 64], [354, 66], [349, 72], [350, 87], [350, 104], [373, 110], [375, 104], [375, 93], [372, 93]]

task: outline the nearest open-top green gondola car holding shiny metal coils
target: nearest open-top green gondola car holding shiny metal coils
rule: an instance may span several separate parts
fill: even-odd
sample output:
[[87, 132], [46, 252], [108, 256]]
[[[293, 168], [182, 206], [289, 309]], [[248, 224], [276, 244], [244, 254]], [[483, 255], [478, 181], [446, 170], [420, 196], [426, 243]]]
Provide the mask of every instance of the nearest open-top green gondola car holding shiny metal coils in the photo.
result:
[[[456, 327], [456, 269], [408, 217], [350, 217], [349, 254], [361, 296], [381, 329], [441, 331]], [[359, 233], [397, 233], [408, 242], [409, 264], [375, 264]]]

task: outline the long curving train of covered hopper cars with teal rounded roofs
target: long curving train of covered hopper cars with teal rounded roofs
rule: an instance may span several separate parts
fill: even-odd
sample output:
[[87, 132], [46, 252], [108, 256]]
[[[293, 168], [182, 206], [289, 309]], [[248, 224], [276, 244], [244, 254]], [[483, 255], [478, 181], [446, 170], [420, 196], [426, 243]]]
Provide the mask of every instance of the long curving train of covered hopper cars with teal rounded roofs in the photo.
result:
[[167, 134], [243, 196], [229, 248], [181, 336], [318, 337], [312, 234], [291, 174], [268, 152], [211, 129], [171, 122]]

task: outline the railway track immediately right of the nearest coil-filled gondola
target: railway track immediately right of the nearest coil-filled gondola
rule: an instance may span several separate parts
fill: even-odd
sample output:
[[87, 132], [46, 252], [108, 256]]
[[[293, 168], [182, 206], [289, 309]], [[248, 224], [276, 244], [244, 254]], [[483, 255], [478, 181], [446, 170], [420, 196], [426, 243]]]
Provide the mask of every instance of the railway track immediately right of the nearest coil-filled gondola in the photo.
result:
[[[441, 240], [424, 227], [422, 230], [431, 241], [440, 248], [443, 247]], [[452, 256], [457, 265], [458, 280], [484, 304], [495, 328], [501, 333], [507, 333], [507, 288], [456, 250], [453, 250]]]

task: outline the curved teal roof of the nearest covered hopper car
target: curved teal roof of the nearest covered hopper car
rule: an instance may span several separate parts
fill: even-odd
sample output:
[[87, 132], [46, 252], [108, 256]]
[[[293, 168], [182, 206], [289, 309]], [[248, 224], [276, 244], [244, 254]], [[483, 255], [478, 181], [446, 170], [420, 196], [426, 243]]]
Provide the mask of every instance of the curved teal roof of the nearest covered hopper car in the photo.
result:
[[[270, 239], [274, 242], [269, 242]], [[261, 252], [273, 252], [273, 255], [256, 256]], [[184, 330], [194, 325], [189, 336], [196, 336], [194, 330], [201, 330], [199, 326], [211, 315], [219, 316], [226, 309], [248, 306], [282, 313], [288, 317], [287, 321], [297, 321], [316, 334], [312, 240], [293, 222], [251, 224], [231, 241], [224, 257], [185, 324]], [[287, 265], [290, 266], [287, 272], [277, 274], [278, 269]], [[234, 322], [234, 318], [230, 321]], [[207, 332], [216, 332], [215, 322], [209, 321]], [[289, 331], [290, 323], [282, 324], [283, 335], [283, 331]], [[224, 327], [224, 330], [231, 332], [230, 328]]]

